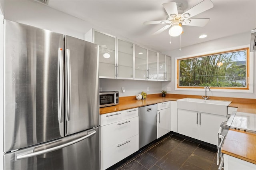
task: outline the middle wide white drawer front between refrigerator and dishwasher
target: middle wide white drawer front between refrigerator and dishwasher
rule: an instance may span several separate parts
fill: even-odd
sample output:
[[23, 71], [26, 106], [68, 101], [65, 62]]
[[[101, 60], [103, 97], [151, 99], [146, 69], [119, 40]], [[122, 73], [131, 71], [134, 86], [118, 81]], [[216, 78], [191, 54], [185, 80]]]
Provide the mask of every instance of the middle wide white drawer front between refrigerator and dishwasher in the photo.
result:
[[139, 117], [100, 127], [102, 149], [139, 134]]

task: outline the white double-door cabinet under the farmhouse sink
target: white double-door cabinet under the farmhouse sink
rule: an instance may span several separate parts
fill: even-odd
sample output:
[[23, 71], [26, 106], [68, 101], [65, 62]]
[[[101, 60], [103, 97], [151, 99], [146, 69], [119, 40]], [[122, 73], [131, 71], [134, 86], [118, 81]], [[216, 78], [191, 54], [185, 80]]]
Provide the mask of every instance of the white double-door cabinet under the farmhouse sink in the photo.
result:
[[178, 109], [178, 133], [217, 145], [220, 124], [226, 120], [222, 115]]

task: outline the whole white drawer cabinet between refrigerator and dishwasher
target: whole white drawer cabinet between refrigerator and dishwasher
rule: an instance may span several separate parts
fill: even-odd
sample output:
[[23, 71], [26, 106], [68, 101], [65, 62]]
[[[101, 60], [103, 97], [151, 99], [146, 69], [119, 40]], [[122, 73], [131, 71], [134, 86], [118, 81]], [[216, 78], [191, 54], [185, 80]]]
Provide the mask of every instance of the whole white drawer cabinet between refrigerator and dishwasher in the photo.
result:
[[100, 115], [100, 169], [139, 149], [138, 108]]

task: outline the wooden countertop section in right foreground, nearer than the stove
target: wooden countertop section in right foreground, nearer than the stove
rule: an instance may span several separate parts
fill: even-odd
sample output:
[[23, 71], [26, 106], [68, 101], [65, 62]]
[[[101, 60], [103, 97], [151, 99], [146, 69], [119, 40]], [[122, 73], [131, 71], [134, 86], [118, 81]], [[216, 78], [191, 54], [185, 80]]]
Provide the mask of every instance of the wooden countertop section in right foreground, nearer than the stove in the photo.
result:
[[256, 164], [256, 134], [230, 129], [222, 153]]

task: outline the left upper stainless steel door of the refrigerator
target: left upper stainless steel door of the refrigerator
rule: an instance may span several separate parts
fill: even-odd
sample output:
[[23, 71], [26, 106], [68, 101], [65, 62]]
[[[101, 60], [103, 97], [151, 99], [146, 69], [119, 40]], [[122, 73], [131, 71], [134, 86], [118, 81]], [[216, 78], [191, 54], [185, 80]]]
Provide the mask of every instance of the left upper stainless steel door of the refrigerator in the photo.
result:
[[64, 136], [58, 93], [63, 38], [5, 20], [4, 152]]

